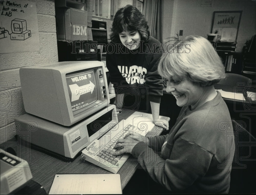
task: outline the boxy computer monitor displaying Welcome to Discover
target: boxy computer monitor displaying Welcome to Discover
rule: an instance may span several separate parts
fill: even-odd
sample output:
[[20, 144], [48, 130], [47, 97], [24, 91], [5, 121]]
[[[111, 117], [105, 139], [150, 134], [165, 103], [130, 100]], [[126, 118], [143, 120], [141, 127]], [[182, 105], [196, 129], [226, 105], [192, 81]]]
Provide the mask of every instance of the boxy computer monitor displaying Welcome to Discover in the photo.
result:
[[70, 126], [110, 103], [100, 61], [68, 61], [20, 68], [25, 111]]

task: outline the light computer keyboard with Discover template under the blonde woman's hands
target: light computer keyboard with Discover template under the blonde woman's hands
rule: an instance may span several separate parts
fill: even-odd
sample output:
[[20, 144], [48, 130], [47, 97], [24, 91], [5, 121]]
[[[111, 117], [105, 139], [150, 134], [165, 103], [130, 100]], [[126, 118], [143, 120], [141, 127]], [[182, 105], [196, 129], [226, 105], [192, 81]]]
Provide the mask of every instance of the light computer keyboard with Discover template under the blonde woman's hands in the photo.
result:
[[100, 139], [91, 142], [82, 151], [81, 158], [112, 173], [117, 173], [129, 158], [130, 154], [125, 153], [122, 156], [114, 156], [113, 154], [116, 152], [116, 149], [114, 149], [116, 142], [119, 139], [123, 139], [129, 130], [140, 133], [143, 136], [146, 135], [145, 130], [137, 128], [132, 122], [122, 120], [122, 122], [118, 123], [119, 127], [121, 125], [123, 125], [123, 128], [118, 128], [118, 130], [115, 128], [110, 129], [106, 134], [100, 137]]

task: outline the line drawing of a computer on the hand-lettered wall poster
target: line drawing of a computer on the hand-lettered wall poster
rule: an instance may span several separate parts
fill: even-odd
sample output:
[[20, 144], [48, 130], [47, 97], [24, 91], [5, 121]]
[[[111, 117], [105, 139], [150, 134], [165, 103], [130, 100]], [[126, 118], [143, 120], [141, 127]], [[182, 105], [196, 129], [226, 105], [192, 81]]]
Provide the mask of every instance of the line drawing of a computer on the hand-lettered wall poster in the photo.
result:
[[11, 40], [25, 40], [31, 37], [31, 31], [27, 30], [27, 21], [23, 19], [12, 20], [12, 33], [10, 34]]

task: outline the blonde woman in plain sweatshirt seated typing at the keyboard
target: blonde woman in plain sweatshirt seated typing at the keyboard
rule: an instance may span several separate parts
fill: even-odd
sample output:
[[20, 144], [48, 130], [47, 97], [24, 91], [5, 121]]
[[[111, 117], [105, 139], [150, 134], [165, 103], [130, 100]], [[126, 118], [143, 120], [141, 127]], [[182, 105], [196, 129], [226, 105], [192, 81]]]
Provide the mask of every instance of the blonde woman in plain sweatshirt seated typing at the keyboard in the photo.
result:
[[[130, 132], [119, 140], [122, 150], [138, 157], [148, 175], [177, 193], [228, 193], [233, 135], [227, 105], [213, 84], [225, 77], [211, 43], [199, 36], [178, 42], [165, 53], [159, 73], [168, 79], [168, 93], [182, 107], [169, 134], [143, 137]], [[231, 134], [229, 134], [231, 133]], [[151, 160], [153, 159], [153, 160]]]

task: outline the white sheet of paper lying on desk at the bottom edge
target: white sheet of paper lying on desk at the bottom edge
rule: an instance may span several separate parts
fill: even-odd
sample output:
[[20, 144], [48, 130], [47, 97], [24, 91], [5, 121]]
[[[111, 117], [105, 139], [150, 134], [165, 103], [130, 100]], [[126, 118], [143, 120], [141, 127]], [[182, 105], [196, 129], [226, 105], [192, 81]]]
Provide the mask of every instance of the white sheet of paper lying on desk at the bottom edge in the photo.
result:
[[49, 194], [122, 194], [120, 174], [56, 174]]

